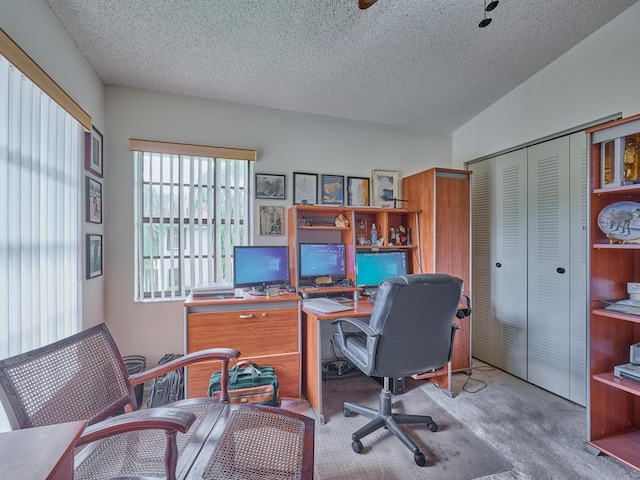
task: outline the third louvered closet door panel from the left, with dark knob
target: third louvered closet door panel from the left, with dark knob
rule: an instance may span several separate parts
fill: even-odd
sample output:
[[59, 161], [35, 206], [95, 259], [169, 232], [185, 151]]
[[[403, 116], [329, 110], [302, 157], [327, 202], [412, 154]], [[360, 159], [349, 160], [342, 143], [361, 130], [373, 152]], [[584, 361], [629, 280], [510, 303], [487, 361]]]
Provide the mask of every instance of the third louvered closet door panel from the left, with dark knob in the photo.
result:
[[569, 138], [528, 149], [528, 380], [569, 396]]

